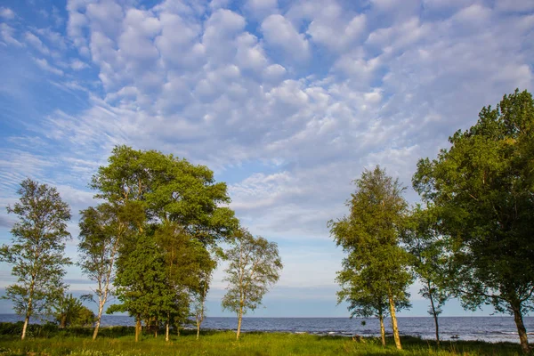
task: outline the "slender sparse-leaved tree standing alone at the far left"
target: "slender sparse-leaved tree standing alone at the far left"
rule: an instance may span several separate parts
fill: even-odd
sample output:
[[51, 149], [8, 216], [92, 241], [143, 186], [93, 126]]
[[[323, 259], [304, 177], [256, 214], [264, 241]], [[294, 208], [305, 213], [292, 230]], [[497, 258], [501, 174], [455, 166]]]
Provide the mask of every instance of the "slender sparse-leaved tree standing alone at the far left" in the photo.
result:
[[12, 227], [12, 245], [0, 249], [0, 259], [13, 264], [12, 275], [17, 277], [17, 283], [6, 288], [6, 298], [24, 315], [24, 339], [29, 318], [51, 312], [54, 299], [63, 294], [64, 266], [70, 263], [63, 255], [70, 210], [46, 184], [26, 179], [17, 193], [19, 202], [7, 206], [7, 212], [18, 215], [19, 221]]

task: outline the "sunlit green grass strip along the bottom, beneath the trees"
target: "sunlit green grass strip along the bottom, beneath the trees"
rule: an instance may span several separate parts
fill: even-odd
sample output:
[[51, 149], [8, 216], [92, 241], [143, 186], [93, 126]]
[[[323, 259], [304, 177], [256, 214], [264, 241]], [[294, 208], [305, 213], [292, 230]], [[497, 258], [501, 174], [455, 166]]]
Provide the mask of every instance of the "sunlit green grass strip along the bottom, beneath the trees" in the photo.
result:
[[[172, 336], [144, 335], [134, 341], [134, 328], [102, 328], [91, 340], [92, 329], [32, 326], [27, 340], [21, 341], [16, 328], [0, 324], [0, 356], [141, 356], [141, 355], [521, 355], [519, 344], [456, 341], [437, 348], [432, 341], [402, 337], [403, 350], [392, 339], [383, 348], [377, 338], [354, 342], [344, 336], [312, 336], [289, 333], [244, 333], [239, 341], [232, 331], [203, 331], [200, 339], [192, 331]], [[13, 326], [13, 325], [12, 325]]]

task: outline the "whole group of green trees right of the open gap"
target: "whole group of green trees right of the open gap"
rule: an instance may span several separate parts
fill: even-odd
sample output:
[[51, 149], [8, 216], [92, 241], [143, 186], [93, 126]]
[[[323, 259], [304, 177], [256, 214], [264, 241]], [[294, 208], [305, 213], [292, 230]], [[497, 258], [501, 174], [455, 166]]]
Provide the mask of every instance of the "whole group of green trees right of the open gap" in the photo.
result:
[[470, 129], [449, 137], [437, 158], [422, 158], [412, 183], [421, 204], [384, 169], [365, 170], [347, 201], [350, 213], [328, 223], [346, 257], [337, 274], [339, 302], [352, 315], [384, 316], [409, 307], [417, 278], [429, 300], [436, 340], [438, 315], [450, 297], [465, 309], [490, 304], [514, 316], [523, 352], [523, 323], [534, 308], [534, 101], [516, 90], [481, 109]]

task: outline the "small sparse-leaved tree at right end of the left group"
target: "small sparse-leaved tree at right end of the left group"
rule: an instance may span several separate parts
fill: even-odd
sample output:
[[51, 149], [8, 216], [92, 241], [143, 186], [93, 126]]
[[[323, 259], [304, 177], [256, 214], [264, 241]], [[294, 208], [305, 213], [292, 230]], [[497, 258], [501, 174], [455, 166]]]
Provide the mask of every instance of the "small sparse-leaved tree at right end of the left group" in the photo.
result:
[[261, 236], [253, 237], [247, 230], [236, 234], [233, 247], [226, 251], [229, 266], [223, 279], [229, 282], [223, 297], [223, 309], [238, 314], [239, 339], [243, 315], [262, 303], [263, 295], [279, 280], [282, 261], [278, 246]]

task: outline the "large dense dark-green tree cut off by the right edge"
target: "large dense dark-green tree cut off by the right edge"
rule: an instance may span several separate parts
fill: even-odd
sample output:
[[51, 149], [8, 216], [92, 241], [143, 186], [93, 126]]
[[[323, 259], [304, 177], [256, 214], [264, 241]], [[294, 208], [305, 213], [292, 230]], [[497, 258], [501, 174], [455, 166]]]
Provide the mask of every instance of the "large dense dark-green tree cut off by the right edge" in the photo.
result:
[[522, 351], [529, 352], [522, 316], [534, 306], [532, 96], [518, 90], [505, 95], [449, 142], [436, 159], [419, 160], [414, 188], [440, 209], [454, 290], [464, 306], [490, 303], [513, 314]]

